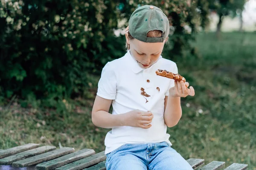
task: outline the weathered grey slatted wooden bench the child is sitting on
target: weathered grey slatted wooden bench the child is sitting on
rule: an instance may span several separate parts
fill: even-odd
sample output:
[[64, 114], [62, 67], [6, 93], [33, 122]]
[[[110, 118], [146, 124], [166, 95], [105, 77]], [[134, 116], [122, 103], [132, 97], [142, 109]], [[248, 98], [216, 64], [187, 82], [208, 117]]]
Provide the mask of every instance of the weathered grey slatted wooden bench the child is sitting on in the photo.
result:
[[[75, 152], [72, 147], [39, 146], [24, 144], [6, 150], [0, 150], [0, 170], [105, 170], [104, 151], [95, 153], [93, 149]], [[187, 160], [196, 170], [220, 170], [225, 167], [223, 161], [212, 161], [204, 165], [204, 159]], [[247, 164], [233, 163], [225, 170], [246, 170]]]

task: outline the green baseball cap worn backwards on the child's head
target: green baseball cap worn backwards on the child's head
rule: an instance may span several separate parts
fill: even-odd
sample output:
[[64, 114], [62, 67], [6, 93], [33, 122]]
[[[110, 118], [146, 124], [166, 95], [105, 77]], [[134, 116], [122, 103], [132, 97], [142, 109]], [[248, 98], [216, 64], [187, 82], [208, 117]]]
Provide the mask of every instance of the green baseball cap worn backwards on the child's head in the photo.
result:
[[[169, 20], [156, 6], [145, 5], [137, 8], [130, 17], [127, 30], [132, 37], [143, 42], [163, 42], [169, 35]], [[162, 37], [147, 37], [149, 31], [160, 30]]]

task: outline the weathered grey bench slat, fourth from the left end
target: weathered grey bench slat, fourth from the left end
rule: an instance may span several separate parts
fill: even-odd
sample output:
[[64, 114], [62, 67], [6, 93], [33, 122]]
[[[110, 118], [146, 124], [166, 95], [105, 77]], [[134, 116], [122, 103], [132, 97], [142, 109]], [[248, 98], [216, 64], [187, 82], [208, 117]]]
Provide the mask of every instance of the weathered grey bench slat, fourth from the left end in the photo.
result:
[[51, 161], [43, 162], [35, 166], [36, 170], [52, 170], [57, 167], [61, 167], [65, 164], [69, 164], [70, 162], [77, 161], [79, 159], [85, 158], [87, 156], [91, 156], [95, 154], [93, 149], [83, 149], [79, 150], [75, 153], [70, 153], [65, 156], [61, 156], [57, 159], [53, 159]]

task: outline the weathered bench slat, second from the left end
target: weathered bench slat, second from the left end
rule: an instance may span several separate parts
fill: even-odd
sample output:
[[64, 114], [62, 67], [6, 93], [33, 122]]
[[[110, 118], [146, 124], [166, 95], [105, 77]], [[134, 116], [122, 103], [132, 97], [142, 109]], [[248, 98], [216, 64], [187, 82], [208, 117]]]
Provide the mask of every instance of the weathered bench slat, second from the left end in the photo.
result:
[[12, 155], [12, 156], [8, 156], [3, 159], [0, 159], [0, 165], [9, 165], [15, 161], [26, 159], [26, 158], [36, 156], [41, 153], [46, 153], [46, 152], [49, 152], [49, 151], [52, 151], [55, 149], [56, 149], [55, 146], [42, 146], [42, 147], [38, 147], [38, 148], [35, 148], [32, 150], [27, 150], [27, 151], [24, 151], [21, 153], [17, 153], [16, 155]]

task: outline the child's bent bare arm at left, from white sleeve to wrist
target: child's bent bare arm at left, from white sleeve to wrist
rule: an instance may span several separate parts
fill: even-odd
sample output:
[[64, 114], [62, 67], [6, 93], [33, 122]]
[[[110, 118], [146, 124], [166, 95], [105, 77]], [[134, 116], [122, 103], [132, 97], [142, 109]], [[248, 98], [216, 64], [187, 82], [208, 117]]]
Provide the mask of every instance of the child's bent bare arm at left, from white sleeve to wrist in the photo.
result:
[[109, 112], [112, 100], [96, 96], [93, 110], [92, 122], [94, 125], [103, 128], [123, 126], [122, 114], [112, 115]]

